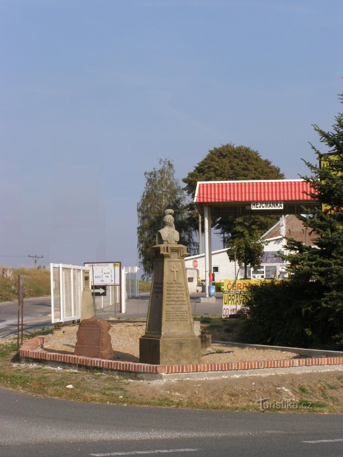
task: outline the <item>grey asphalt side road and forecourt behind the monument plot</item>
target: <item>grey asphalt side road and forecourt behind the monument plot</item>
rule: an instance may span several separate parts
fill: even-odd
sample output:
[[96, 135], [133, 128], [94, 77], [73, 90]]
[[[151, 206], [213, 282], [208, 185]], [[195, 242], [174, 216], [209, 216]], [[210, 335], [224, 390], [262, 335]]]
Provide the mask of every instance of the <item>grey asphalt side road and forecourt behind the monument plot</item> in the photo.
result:
[[[138, 318], [144, 319], [148, 314], [149, 292], [143, 292], [140, 299], [129, 298], [126, 302], [127, 312], [118, 313], [117, 317], [121, 319]], [[216, 303], [199, 303], [199, 297], [204, 294], [191, 294], [191, 308], [193, 314], [221, 314], [222, 294], [216, 299]], [[96, 317], [110, 318], [113, 317], [113, 310], [105, 310], [104, 313], [97, 312]], [[24, 300], [24, 333], [30, 333], [35, 330], [51, 328], [51, 297], [27, 298]], [[16, 335], [18, 324], [18, 302], [0, 303], [0, 338], [9, 335]]]

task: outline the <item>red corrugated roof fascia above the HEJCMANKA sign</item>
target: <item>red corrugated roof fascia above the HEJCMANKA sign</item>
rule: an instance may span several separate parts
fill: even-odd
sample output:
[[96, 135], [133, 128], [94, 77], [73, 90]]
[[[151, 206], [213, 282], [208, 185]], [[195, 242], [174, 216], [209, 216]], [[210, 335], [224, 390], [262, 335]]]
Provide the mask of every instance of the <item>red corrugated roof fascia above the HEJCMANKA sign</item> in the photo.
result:
[[313, 200], [313, 191], [302, 179], [273, 181], [208, 181], [198, 182], [196, 203], [220, 202], [302, 202]]

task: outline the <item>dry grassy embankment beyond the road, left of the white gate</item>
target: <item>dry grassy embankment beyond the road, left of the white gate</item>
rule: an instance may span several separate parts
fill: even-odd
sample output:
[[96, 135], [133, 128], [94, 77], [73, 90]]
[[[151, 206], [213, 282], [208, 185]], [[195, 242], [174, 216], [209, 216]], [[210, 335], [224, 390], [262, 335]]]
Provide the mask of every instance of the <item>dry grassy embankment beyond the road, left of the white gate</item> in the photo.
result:
[[24, 297], [47, 297], [51, 293], [50, 271], [34, 268], [13, 269], [14, 281], [0, 276], [0, 302], [18, 299], [18, 275], [24, 275]]

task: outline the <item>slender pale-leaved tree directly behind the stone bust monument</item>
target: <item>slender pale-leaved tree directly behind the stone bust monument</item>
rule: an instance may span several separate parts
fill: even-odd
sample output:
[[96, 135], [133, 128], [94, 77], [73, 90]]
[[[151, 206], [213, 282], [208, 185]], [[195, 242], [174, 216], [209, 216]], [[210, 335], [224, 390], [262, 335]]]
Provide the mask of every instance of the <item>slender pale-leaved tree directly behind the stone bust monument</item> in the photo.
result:
[[156, 233], [163, 227], [163, 212], [171, 208], [174, 210], [175, 228], [180, 234], [180, 244], [194, 254], [198, 244], [193, 237], [193, 228], [187, 223], [186, 199], [182, 187], [175, 178], [175, 169], [169, 159], [159, 160], [160, 168], [146, 171], [145, 189], [137, 205], [138, 214], [138, 253], [139, 266], [143, 268], [143, 278], [149, 280], [153, 272], [153, 258], [151, 247], [156, 244]]

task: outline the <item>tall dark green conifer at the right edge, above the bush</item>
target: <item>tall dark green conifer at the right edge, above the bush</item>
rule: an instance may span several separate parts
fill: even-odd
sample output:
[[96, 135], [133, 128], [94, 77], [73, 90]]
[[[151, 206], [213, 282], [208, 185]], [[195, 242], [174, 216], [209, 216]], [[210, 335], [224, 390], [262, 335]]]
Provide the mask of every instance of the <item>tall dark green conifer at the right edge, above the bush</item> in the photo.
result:
[[303, 284], [307, 291], [303, 311], [316, 316], [317, 330], [324, 334], [328, 327], [336, 328], [337, 334], [331, 336], [343, 344], [343, 114], [335, 117], [332, 132], [313, 127], [329, 152], [322, 154], [311, 144], [318, 165], [305, 162], [312, 175], [304, 179], [311, 183], [311, 196], [319, 200], [320, 208], [308, 210], [299, 218], [319, 237], [313, 246], [289, 239], [291, 254], [285, 259], [292, 280]]

